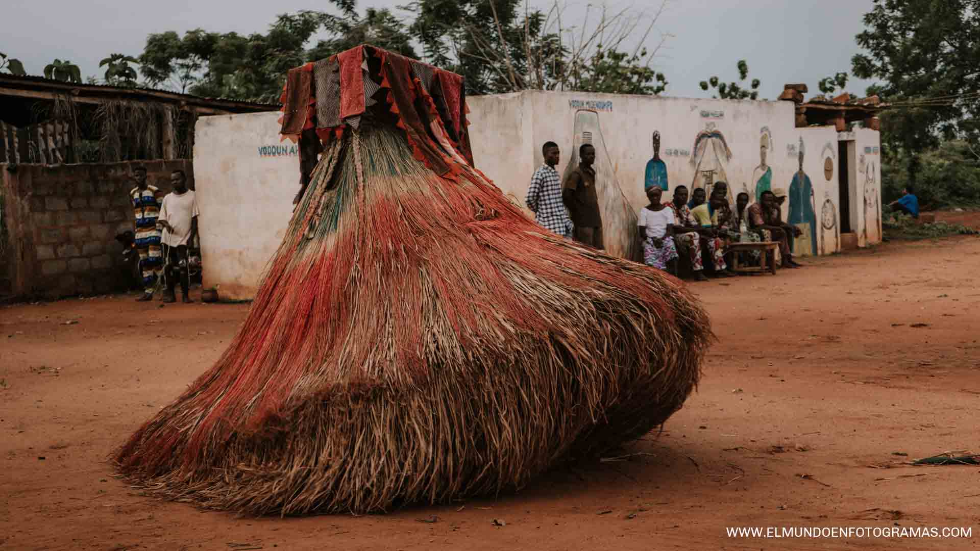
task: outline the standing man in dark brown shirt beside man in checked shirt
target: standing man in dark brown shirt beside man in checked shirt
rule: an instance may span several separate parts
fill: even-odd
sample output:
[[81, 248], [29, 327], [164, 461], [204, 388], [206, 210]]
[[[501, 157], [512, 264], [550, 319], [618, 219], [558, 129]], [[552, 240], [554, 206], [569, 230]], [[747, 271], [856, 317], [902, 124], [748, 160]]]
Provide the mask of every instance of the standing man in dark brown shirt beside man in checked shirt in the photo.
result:
[[602, 249], [603, 219], [599, 214], [599, 196], [596, 194], [596, 148], [583, 143], [578, 148], [579, 163], [572, 169], [562, 185], [562, 201], [568, 207], [571, 222], [575, 225], [575, 240]]

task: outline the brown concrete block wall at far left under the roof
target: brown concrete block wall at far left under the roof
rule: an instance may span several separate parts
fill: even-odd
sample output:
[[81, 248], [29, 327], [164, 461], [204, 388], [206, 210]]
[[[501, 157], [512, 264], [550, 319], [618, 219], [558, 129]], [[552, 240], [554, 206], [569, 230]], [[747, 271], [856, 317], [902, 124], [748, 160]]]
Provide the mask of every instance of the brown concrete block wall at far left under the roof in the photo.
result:
[[149, 182], [165, 192], [176, 169], [193, 183], [187, 160], [0, 165], [5, 213], [0, 224], [7, 237], [0, 253], [6, 265], [0, 271], [0, 297], [6, 292], [8, 298], [53, 299], [125, 288], [123, 248], [115, 237], [132, 229], [128, 192], [136, 165], [146, 167]]

